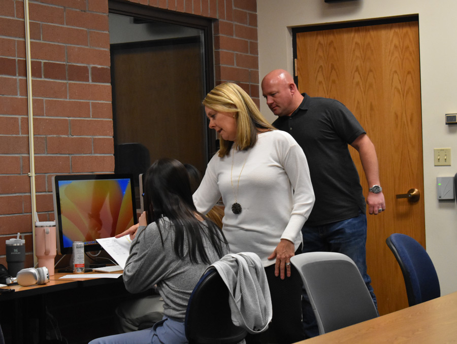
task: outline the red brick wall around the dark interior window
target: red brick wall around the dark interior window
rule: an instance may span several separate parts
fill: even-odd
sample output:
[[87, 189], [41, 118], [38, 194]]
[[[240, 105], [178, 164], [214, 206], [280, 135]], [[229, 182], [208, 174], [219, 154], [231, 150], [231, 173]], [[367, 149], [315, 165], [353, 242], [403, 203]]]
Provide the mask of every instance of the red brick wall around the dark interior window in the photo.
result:
[[[128, 0], [126, 0], [127, 2]], [[256, 0], [131, 0], [218, 19], [216, 84], [232, 81], [259, 104]], [[26, 240], [32, 216], [24, 4], [0, 0], [0, 263], [5, 240]], [[114, 170], [107, 0], [29, 1], [37, 211], [53, 220], [52, 176]]]

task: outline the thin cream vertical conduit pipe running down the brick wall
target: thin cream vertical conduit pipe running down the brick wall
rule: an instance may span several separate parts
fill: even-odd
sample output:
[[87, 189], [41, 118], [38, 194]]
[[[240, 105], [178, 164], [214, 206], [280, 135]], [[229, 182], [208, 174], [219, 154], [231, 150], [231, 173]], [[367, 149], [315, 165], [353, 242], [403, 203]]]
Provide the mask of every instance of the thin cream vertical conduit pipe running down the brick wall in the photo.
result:
[[34, 248], [34, 266], [37, 264], [35, 255], [35, 214], [37, 212], [37, 197], [35, 194], [35, 151], [34, 151], [34, 109], [31, 85], [31, 63], [30, 63], [30, 26], [28, 16], [28, 0], [24, 0], [24, 22], [25, 22], [25, 61], [27, 66], [27, 105], [28, 105], [28, 147], [30, 157], [30, 197], [32, 217], [32, 242]]

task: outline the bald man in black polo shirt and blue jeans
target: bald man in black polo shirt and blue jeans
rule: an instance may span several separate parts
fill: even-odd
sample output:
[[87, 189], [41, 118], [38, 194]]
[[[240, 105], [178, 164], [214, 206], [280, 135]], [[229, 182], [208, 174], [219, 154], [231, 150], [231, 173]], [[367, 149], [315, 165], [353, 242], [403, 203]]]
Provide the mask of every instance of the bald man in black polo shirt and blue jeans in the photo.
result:
[[[365, 198], [348, 149], [351, 145], [360, 155], [370, 190], [366, 201], [368, 212], [378, 215], [385, 210], [385, 202], [373, 143], [341, 102], [300, 94], [287, 71], [274, 70], [267, 74], [262, 81], [262, 92], [270, 110], [278, 116], [273, 125], [291, 134], [308, 160], [316, 201], [302, 229], [302, 252], [332, 251], [349, 256], [376, 304], [367, 274]], [[308, 337], [319, 334], [306, 293], [303, 327]]]

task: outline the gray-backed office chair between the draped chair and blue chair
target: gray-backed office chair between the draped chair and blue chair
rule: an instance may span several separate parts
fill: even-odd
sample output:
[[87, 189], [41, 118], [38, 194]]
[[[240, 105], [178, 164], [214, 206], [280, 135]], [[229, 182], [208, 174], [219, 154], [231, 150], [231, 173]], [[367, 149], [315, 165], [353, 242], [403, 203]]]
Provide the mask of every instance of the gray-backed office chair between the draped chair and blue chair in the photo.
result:
[[290, 262], [302, 277], [319, 334], [378, 316], [362, 275], [348, 256], [309, 252], [291, 257]]

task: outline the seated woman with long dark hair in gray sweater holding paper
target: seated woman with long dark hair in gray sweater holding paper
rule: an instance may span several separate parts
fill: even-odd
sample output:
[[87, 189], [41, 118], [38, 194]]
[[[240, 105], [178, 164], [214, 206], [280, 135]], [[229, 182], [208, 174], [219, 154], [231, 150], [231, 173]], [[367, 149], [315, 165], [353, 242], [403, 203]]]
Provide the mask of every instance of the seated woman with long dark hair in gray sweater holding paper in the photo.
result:
[[184, 318], [194, 286], [208, 265], [227, 253], [222, 231], [193, 205], [185, 167], [159, 159], [146, 173], [145, 209], [133, 238], [123, 279], [129, 292], [157, 285], [164, 318], [153, 327], [94, 339], [90, 344], [185, 343]]

